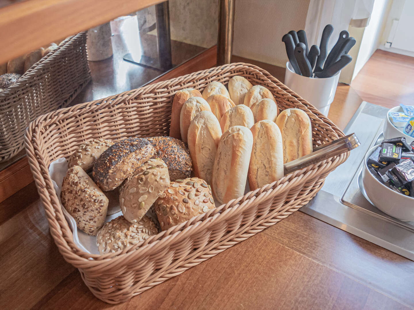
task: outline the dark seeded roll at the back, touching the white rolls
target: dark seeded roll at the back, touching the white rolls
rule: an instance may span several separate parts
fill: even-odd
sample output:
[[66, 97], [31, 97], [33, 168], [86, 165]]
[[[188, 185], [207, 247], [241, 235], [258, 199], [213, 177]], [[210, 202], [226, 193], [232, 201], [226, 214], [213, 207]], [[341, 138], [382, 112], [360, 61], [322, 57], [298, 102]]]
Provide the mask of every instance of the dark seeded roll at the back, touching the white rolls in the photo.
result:
[[170, 181], [190, 176], [193, 162], [183, 141], [171, 137], [151, 137], [147, 140], [156, 150], [153, 158], [161, 158], [166, 163]]

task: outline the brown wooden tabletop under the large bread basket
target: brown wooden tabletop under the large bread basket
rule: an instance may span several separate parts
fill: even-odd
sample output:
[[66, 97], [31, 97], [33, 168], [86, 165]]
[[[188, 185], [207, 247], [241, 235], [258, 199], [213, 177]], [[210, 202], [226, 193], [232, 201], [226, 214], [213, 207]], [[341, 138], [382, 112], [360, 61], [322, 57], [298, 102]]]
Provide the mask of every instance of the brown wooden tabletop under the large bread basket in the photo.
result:
[[[340, 84], [329, 117], [343, 129], [361, 101]], [[0, 309], [414, 306], [414, 262], [300, 211], [119, 305], [95, 298], [60, 255], [33, 183], [0, 204], [0, 245]]]

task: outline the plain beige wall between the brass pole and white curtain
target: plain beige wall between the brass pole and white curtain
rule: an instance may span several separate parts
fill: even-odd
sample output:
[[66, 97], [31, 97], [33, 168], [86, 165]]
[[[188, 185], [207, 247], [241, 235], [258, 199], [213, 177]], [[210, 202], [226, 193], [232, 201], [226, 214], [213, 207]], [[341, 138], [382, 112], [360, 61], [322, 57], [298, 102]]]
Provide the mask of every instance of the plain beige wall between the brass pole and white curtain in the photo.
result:
[[285, 67], [282, 36], [305, 28], [309, 1], [236, 0], [233, 55]]

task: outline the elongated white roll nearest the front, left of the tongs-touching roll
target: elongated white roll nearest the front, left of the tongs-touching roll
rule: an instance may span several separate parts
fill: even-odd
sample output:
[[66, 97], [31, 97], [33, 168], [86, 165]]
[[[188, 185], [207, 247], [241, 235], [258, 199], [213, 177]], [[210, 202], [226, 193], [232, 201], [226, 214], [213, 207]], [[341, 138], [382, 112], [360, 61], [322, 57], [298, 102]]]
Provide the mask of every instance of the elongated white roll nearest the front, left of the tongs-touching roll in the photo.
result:
[[217, 200], [227, 203], [244, 195], [253, 135], [244, 126], [233, 126], [220, 138], [213, 166], [212, 188]]

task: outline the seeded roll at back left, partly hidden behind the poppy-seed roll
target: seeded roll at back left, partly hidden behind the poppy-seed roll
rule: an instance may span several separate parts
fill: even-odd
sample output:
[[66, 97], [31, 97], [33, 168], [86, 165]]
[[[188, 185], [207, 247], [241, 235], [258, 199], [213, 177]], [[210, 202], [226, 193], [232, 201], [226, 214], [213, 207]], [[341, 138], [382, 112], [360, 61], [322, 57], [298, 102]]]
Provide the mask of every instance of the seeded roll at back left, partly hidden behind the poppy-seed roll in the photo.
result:
[[112, 145], [113, 142], [111, 140], [89, 140], [79, 145], [79, 148], [69, 157], [68, 167], [79, 166], [88, 172], [94, 167], [94, 163], [98, 160], [99, 156]]

